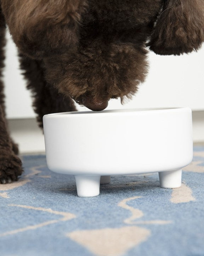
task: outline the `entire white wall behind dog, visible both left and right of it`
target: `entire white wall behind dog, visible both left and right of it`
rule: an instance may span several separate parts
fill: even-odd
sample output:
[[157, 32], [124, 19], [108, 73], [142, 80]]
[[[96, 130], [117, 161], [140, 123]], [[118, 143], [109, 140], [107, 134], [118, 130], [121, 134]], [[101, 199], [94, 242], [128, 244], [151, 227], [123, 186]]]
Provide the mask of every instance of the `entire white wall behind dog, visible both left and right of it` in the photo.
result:
[[[35, 114], [25, 81], [18, 69], [17, 51], [8, 33], [5, 85], [8, 118], [30, 118]], [[113, 108], [182, 107], [204, 110], [204, 47], [182, 56], [160, 56], [149, 53], [149, 74], [138, 93], [124, 106], [111, 100]], [[78, 107], [80, 110], [86, 108]]]

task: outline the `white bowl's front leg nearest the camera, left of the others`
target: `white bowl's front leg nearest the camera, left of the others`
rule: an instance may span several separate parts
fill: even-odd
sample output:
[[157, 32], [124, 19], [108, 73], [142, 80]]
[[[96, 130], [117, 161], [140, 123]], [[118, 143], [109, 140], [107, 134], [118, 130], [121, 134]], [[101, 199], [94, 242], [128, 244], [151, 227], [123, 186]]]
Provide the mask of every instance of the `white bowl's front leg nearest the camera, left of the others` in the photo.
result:
[[100, 175], [75, 175], [78, 196], [98, 196], [100, 192], [100, 177]]

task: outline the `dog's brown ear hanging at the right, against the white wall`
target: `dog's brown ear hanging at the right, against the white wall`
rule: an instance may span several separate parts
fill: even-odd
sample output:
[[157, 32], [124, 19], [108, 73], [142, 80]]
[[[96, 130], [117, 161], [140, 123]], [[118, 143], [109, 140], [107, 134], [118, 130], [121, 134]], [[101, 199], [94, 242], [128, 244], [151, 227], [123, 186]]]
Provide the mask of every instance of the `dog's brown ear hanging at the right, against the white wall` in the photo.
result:
[[197, 50], [204, 42], [204, 0], [164, 0], [147, 44], [161, 55]]

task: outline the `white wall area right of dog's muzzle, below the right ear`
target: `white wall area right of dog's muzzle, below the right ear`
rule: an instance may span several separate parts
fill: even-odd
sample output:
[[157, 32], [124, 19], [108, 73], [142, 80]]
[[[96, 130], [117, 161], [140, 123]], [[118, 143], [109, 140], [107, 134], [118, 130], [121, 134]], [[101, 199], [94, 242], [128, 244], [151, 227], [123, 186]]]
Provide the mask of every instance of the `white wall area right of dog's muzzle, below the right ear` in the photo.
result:
[[[182, 56], [149, 53], [149, 74], [125, 108], [190, 107], [204, 110], [204, 46]], [[115, 101], [115, 100], [113, 100]], [[121, 108], [110, 102], [109, 108]]]

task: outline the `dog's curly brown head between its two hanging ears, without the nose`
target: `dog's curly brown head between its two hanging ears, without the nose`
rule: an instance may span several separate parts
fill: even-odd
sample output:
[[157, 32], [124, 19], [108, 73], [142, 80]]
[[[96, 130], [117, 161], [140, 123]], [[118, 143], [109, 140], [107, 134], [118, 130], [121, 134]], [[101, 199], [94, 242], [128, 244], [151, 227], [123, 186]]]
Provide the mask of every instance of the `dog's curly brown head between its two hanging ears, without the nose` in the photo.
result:
[[131, 98], [147, 74], [145, 42], [161, 2], [88, 1], [79, 44], [44, 58], [47, 81], [80, 105], [84, 97], [96, 102]]

